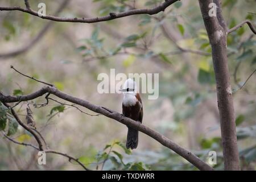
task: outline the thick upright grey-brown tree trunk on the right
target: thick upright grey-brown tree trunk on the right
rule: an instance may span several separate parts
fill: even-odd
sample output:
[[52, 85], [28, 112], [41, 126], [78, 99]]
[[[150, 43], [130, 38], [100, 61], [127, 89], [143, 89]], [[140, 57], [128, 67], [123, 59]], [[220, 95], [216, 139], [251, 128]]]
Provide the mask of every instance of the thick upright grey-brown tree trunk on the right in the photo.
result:
[[[220, 0], [199, 0], [199, 4], [212, 46], [225, 170], [240, 170], [232, 88], [226, 54], [228, 29], [221, 14]], [[212, 10], [215, 5], [217, 13], [213, 15]]]

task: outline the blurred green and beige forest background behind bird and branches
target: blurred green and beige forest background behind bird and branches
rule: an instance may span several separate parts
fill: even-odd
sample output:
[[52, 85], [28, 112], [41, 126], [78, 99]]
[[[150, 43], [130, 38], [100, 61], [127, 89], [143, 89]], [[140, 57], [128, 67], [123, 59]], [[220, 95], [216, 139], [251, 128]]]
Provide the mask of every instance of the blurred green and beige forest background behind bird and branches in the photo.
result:
[[[46, 3], [46, 14], [55, 14], [63, 1], [34, 0], [30, 1], [31, 8], [38, 10], [41, 2]], [[96, 17], [129, 10], [134, 5], [137, 9], [150, 8], [160, 2], [73, 0], [59, 16]], [[255, 23], [255, 5], [254, 0], [222, 1], [228, 27], [244, 19]], [[24, 2], [0, 0], [0, 6], [24, 7]], [[141, 95], [144, 125], [205, 161], [209, 151], [216, 151], [217, 164], [213, 167], [224, 168], [211, 49], [197, 1], [176, 2], [164, 13], [152, 16], [133, 15], [93, 24], [51, 22], [19, 11], [2, 11], [0, 35], [0, 90], [6, 95], [28, 94], [43, 86], [10, 69], [14, 65], [27, 75], [55, 84], [65, 93], [122, 113], [122, 94], [97, 93], [98, 74], [109, 75], [111, 68], [116, 73], [159, 73], [159, 98], [148, 100], [147, 94]], [[30, 46], [31, 42], [35, 43]], [[247, 26], [228, 35], [229, 71], [243, 170], [256, 169], [256, 74], [240, 89], [256, 69], [255, 46], [256, 38]], [[23, 48], [26, 50], [12, 53]], [[44, 97], [34, 100], [36, 104], [43, 102]], [[15, 107], [23, 121], [26, 107], [27, 102]], [[100, 170], [104, 163], [106, 170], [196, 170], [142, 133], [138, 148], [125, 150], [127, 127], [112, 119], [90, 116], [54, 101], [39, 109], [30, 107], [37, 129], [49, 146], [76, 156], [89, 168]], [[20, 126], [9, 135], [19, 142], [35, 143]], [[47, 164], [39, 165], [37, 154], [33, 148], [12, 143], [1, 134], [1, 170], [81, 169], [75, 162], [69, 163], [67, 158], [54, 154], [47, 154]]]

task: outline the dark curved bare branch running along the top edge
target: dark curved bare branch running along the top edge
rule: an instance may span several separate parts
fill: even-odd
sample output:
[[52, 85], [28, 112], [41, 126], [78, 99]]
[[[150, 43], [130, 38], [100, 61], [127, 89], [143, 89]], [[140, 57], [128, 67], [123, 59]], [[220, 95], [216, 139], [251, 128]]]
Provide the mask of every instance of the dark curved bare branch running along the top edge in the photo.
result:
[[15, 6], [15, 7], [0, 7], [0, 11], [23, 11], [24, 13], [28, 13], [34, 16], [38, 16], [43, 19], [53, 20], [56, 22], [80, 22], [80, 23], [95, 23], [95, 22], [104, 22], [112, 19], [122, 18], [125, 16], [130, 15], [138, 15], [138, 14], [157, 14], [160, 11], [164, 11], [168, 6], [172, 5], [176, 1], [180, 0], [166, 0], [161, 3], [159, 6], [156, 6], [152, 9], [135, 9], [129, 10], [122, 13], [110, 13], [108, 16], [101, 16], [96, 18], [60, 18], [57, 16], [46, 15], [46, 16], [39, 16], [38, 12], [31, 9], [23, 9], [22, 7]]

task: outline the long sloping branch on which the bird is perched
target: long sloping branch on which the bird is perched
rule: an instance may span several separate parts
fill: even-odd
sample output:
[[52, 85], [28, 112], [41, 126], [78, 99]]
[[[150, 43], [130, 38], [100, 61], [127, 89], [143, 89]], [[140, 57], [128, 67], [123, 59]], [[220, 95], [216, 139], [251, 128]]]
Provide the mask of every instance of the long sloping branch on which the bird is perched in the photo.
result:
[[172, 140], [164, 137], [162, 134], [158, 133], [157, 131], [154, 131], [150, 129], [147, 126], [142, 125], [141, 123], [138, 123], [134, 121], [133, 119], [124, 117], [122, 114], [117, 113], [114, 110], [111, 109], [105, 109], [105, 107], [97, 106], [94, 104], [91, 104], [89, 101], [82, 100], [77, 97], [73, 97], [69, 94], [60, 92], [56, 88], [52, 86], [44, 86], [42, 89], [28, 94], [24, 96], [4, 96], [0, 93], [0, 101], [2, 102], [18, 102], [18, 101], [28, 101], [33, 100], [35, 98], [38, 98], [40, 96], [43, 96], [43, 94], [51, 93], [59, 98], [62, 98], [63, 100], [72, 102], [73, 104], [77, 104], [83, 107], [86, 107], [89, 110], [92, 110], [96, 113], [105, 115], [108, 118], [112, 118], [115, 121], [118, 121], [124, 125], [133, 127], [136, 130], [141, 131], [142, 133], [150, 136], [151, 138], [154, 138], [159, 143], [163, 144], [163, 146], [166, 146], [170, 148], [171, 150], [175, 151], [177, 154], [182, 156], [183, 158], [187, 159], [188, 162], [192, 163], [195, 167], [199, 168], [200, 170], [213, 170], [212, 167], [210, 167], [207, 163], [205, 163], [203, 160], [198, 158], [195, 154], [192, 154], [191, 151], [188, 151], [187, 149], [179, 146], [178, 144], [174, 143]]

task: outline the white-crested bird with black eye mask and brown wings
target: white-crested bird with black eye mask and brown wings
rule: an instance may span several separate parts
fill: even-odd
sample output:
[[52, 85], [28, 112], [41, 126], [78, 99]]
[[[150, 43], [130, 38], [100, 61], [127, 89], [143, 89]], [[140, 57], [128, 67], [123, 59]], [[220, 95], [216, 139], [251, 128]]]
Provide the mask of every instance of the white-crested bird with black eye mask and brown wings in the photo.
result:
[[[142, 100], [137, 92], [136, 82], [128, 78], [120, 90], [123, 93], [122, 113], [125, 117], [142, 123], [143, 106]], [[129, 126], [127, 132], [126, 148], [135, 149], [139, 142], [139, 131]]]

